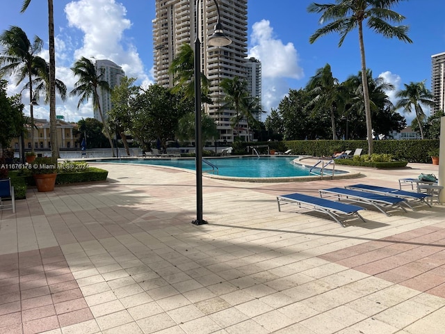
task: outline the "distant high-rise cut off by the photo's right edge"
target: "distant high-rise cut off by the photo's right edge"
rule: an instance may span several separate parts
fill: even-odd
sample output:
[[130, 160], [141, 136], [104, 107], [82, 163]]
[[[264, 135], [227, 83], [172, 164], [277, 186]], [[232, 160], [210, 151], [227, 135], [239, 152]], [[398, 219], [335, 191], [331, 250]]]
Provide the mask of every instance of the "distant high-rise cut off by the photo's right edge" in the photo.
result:
[[431, 56], [431, 93], [436, 103], [432, 112], [445, 111], [445, 52]]

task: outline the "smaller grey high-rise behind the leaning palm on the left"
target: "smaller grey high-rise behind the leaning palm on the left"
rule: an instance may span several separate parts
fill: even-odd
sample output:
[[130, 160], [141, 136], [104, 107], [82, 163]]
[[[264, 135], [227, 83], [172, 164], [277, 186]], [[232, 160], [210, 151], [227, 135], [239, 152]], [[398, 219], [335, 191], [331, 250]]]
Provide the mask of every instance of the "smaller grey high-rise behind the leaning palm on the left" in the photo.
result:
[[[106, 59], [96, 61], [96, 70], [98, 74], [102, 74], [101, 80], [108, 82], [108, 86], [112, 89], [120, 84], [120, 79], [124, 77], [125, 72], [122, 67], [108, 61]], [[99, 94], [99, 104], [104, 118], [107, 118], [108, 111], [111, 110], [111, 93], [108, 90], [102, 90], [99, 88], [97, 92]], [[102, 122], [99, 110], [95, 108], [94, 117]]]

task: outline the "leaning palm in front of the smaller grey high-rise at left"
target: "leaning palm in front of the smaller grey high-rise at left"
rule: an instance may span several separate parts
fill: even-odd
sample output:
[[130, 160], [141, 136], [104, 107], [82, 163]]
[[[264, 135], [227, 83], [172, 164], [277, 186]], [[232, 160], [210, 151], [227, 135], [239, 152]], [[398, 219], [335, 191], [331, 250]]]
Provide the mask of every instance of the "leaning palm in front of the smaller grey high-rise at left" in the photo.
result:
[[97, 93], [98, 88], [102, 90], [110, 90], [108, 82], [102, 80], [104, 75], [103, 72], [97, 74], [96, 65], [93, 64], [90, 59], [85, 57], [81, 57], [76, 61], [74, 66], [71, 67], [71, 70], [74, 72], [74, 76], [79, 77], [79, 80], [74, 84], [74, 89], [70, 92], [70, 96], [80, 95], [81, 98], [77, 104], [77, 108], [79, 108], [82, 103], [88, 102], [88, 100], [92, 98], [92, 106], [99, 111], [99, 116], [104, 124], [105, 136], [110, 142], [111, 152], [113, 152], [113, 157], [115, 157], [113, 139], [108, 131], [106, 119], [104, 118], [104, 115], [102, 115], [99, 94]]

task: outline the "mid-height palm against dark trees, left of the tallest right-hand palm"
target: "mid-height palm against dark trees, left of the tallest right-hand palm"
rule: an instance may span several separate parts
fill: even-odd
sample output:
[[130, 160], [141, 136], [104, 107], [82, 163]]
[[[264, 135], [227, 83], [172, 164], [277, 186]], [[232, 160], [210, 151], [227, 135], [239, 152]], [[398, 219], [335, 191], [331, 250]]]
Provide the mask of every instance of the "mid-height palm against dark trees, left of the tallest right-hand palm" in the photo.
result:
[[309, 79], [307, 90], [314, 99], [307, 104], [307, 107], [314, 106], [315, 111], [323, 111], [328, 109], [331, 119], [332, 140], [337, 139], [335, 130], [335, 109], [342, 100], [341, 90], [339, 90], [339, 81], [332, 77], [331, 66], [326, 64], [325, 67], [319, 68], [314, 77]]

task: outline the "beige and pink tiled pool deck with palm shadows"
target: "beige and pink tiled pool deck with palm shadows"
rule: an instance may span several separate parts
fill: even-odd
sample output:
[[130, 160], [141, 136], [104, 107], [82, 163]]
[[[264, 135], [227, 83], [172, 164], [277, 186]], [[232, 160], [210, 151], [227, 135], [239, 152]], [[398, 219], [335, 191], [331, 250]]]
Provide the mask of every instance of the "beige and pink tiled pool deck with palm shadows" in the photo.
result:
[[[101, 165], [0, 212], [0, 333], [445, 333], [445, 205], [342, 228], [276, 196], [438, 174], [430, 164], [309, 182], [203, 179]], [[289, 206], [290, 207], [290, 206]]]

